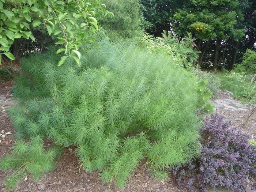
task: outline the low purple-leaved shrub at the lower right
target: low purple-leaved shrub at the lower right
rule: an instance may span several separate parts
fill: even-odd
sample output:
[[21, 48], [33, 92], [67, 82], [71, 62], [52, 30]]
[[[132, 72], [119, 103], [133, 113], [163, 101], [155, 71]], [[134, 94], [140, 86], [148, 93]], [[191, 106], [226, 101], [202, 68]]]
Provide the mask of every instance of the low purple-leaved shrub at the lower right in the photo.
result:
[[[217, 187], [245, 191], [249, 174], [256, 176], [256, 147], [248, 143], [250, 135], [230, 125], [217, 113], [204, 118], [199, 158], [172, 169], [181, 186], [190, 192], [195, 191], [195, 185], [205, 192], [210, 187], [214, 191], [218, 191]], [[252, 190], [256, 190], [256, 183]]]

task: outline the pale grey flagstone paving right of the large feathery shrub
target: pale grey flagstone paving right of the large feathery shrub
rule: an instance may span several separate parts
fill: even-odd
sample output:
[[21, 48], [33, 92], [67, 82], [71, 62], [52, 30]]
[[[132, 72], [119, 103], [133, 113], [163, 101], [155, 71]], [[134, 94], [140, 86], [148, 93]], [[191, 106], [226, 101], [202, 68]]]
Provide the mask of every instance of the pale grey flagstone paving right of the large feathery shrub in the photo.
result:
[[213, 101], [215, 108], [223, 108], [230, 111], [247, 111], [248, 107], [243, 106], [241, 103], [233, 99], [216, 99]]

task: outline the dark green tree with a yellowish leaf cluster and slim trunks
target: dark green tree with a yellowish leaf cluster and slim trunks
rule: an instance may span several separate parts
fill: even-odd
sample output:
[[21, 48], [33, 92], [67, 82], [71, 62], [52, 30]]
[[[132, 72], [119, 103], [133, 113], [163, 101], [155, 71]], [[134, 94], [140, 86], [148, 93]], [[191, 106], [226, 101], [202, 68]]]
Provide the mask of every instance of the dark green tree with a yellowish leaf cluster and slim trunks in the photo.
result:
[[202, 52], [197, 64], [202, 63], [204, 53], [212, 42], [215, 45], [212, 63], [213, 68], [217, 69], [221, 45], [229, 38], [238, 41], [244, 36], [245, 29], [237, 25], [243, 17], [238, 6], [236, 0], [191, 0], [173, 15], [172, 27], [175, 33], [182, 35], [192, 31], [197, 38], [197, 50]]

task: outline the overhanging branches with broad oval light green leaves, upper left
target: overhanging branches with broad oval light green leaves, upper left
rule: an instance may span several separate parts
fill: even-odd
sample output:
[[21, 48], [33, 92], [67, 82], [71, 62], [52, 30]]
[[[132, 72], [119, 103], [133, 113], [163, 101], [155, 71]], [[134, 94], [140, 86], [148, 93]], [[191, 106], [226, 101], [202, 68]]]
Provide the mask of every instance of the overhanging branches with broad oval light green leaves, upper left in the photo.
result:
[[[58, 65], [62, 65], [68, 57], [80, 65], [79, 45], [89, 41], [96, 44], [95, 39], [91, 37], [98, 30], [96, 18], [114, 16], [98, 0], [86, 2], [82, 0], [12, 0], [6, 2], [0, 0], [0, 12], [2, 54], [14, 60], [14, 55], [9, 52], [14, 40], [24, 37], [35, 41], [30, 23], [33, 27], [45, 25], [48, 35], [52, 35], [53, 39], [58, 39], [56, 44], [65, 46], [57, 50], [57, 54], [60, 52], [65, 54]], [[2, 58], [1, 62], [4, 62]]]

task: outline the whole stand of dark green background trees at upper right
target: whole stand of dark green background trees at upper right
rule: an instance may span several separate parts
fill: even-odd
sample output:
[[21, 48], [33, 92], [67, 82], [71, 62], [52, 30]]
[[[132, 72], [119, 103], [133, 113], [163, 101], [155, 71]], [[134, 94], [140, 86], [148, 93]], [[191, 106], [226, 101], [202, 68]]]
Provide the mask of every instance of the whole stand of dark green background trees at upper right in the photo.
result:
[[253, 0], [142, 0], [142, 5], [145, 20], [150, 23], [148, 33], [157, 37], [163, 30], [172, 31], [181, 38], [191, 32], [197, 38], [197, 50], [201, 51], [198, 65], [233, 69], [236, 56], [241, 61], [246, 49], [255, 49]]

